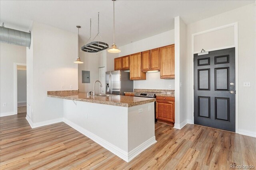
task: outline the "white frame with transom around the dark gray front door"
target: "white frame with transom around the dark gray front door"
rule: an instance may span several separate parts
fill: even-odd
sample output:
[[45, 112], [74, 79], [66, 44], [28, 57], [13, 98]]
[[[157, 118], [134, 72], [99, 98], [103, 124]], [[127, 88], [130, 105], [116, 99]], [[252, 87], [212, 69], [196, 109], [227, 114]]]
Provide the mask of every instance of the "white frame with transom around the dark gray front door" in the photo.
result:
[[214, 49], [204, 49], [205, 51], [215, 51], [215, 50], [221, 50], [221, 49], [227, 49], [227, 48], [232, 48], [235, 47], [235, 66], [236, 66], [236, 133], [238, 133], [238, 22], [235, 23], [230, 23], [228, 25], [223, 25], [220, 27], [216, 27], [213, 29], [208, 29], [206, 31], [201, 31], [198, 33], [192, 34], [192, 50], [191, 50], [191, 63], [192, 63], [192, 70], [191, 70], [191, 77], [192, 77], [192, 124], [194, 124], [194, 54], [200, 53], [200, 51], [194, 51], [194, 37], [196, 35], [216, 31], [219, 29], [224, 29], [227, 27], [234, 27], [234, 45], [231, 46], [226, 46], [226, 47], [220, 47], [220, 48], [214, 48]]

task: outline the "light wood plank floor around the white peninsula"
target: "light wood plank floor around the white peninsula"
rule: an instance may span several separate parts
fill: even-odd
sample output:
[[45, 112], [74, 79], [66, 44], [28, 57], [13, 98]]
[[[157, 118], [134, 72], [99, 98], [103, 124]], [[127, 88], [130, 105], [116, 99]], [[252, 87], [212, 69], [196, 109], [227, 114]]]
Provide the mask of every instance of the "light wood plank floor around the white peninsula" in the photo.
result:
[[156, 123], [156, 140], [129, 163], [65, 123], [31, 129], [26, 113], [0, 118], [0, 169], [229, 169], [256, 167], [256, 138]]

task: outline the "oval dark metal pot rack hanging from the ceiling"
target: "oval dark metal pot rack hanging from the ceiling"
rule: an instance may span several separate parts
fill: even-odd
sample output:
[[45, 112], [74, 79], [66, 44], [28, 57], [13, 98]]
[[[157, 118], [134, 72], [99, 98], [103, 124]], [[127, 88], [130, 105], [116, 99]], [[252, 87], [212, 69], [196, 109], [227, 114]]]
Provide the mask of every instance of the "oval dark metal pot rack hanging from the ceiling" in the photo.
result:
[[[96, 36], [94, 37], [94, 39], [99, 36], [100, 39], [102, 40], [102, 37], [100, 35], [100, 13], [98, 12], [98, 33], [96, 34]], [[94, 41], [94, 39], [92, 39], [92, 19], [90, 19], [90, 37], [89, 39], [86, 41], [86, 45], [83, 45], [81, 47], [81, 50], [87, 53], [97, 53], [99, 51], [103, 51], [108, 49], [108, 44], [101, 42], [101, 41]], [[90, 43], [88, 43], [88, 41], [90, 41]]]

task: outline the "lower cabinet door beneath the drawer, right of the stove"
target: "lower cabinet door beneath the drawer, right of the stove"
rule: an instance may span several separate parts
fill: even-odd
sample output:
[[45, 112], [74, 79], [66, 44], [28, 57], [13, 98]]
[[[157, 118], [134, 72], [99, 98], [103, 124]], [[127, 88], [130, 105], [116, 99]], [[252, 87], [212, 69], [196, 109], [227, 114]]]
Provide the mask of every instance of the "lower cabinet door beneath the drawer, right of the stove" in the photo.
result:
[[175, 121], [175, 104], [173, 101], [168, 100], [157, 100], [156, 101], [156, 119], [164, 121]]

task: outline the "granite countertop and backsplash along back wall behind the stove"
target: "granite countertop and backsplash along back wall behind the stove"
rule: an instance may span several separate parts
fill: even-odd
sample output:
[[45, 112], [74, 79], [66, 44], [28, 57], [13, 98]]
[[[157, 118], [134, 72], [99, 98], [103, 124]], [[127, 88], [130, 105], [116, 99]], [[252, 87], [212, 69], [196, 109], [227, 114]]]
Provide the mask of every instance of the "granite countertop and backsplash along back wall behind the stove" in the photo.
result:
[[134, 92], [124, 92], [125, 94], [135, 94], [137, 92], [152, 92], [156, 96], [174, 97], [174, 90], [159, 90], [159, 89], [134, 89]]

